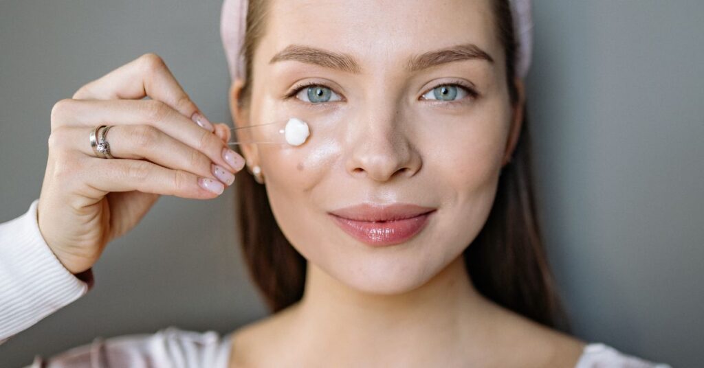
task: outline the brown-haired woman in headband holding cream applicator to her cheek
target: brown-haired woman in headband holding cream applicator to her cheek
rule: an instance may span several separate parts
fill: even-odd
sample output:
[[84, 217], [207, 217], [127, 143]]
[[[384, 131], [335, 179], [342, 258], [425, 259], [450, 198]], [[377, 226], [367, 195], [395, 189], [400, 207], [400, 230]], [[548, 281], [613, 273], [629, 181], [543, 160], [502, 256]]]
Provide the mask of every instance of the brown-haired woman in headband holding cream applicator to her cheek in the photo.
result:
[[[153, 54], [57, 103], [42, 193], [2, 227], [0, 338], [87, 293], [103, 248], [158, 196], [215, 198], [246, 165], [241, 240], [271, 317], [48, 361], [667, 367], [568, 334], [530, 186], [528, 2], [381, 3], [226, 1], [232, 118], [253, 127], [241, 156]], [[265, 143], [291, 117], [306, 141]]]

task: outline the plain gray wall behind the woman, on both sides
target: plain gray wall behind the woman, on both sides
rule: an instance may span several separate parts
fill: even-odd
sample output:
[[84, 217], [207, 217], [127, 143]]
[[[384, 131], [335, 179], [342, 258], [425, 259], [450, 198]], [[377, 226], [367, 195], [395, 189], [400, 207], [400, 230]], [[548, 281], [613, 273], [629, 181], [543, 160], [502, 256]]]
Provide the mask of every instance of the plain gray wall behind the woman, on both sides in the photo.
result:
[[[142, 53], [231, 123], [220, 4], [1, 1], [0, 222], [39, 196], [54, 103]], [[700, 0], [538, 0], [527, 78], [543, 231], [575, 334], [674, 367], [698, 366], [704, 347], [703, 15]], [[0, 366], [264, 317], [233, 194], [161, 198], [106, 248], [96, 288], [0, 345]]]

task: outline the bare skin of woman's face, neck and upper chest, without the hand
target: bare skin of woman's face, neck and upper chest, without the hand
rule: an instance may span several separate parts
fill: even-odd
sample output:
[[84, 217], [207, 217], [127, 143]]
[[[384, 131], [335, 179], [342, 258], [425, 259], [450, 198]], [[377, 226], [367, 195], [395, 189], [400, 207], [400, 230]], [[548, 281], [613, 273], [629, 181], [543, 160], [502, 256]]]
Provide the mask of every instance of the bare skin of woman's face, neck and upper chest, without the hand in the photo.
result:
[[[237, 105], [241, 80], [230, 105], [239, 127], [293, 115], [315, 123], [318, 139], [298, 148], [242, 147], [308, 274], [300, 303], [235, 331], [232, 367], [574, 367], [584, 341], [479, 295], [461, 258], [486, 222], [522, 121], [523, 82], [511, 106], [490, 14], [488, 0], [275, 1], [253, 60], [251, 105]], [[403, 68], [410, 56], [469, 42], [494, 63]], [[269, 63], [290, 44], [346, 53], [360, 72]], [[455, 80], [479, 96], [423, 98]], [[311, 112], [306, 89], [304, 100], [282, 97], [307, 81], [339, 100]], [[361, 202], [437, 211], [413, 239], [373, 248], [326, 214]]]

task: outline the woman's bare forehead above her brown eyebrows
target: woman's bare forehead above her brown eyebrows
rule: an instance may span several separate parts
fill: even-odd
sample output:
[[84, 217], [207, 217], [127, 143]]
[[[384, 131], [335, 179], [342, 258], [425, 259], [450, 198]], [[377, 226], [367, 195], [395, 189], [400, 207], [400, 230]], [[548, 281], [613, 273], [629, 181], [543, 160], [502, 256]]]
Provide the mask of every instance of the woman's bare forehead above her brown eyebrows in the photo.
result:
[[272, 0], [263, 45], [349, 53], [360, 63], [398, 62], [420, 52], [476, 44], [498, 57], [491, 0]]

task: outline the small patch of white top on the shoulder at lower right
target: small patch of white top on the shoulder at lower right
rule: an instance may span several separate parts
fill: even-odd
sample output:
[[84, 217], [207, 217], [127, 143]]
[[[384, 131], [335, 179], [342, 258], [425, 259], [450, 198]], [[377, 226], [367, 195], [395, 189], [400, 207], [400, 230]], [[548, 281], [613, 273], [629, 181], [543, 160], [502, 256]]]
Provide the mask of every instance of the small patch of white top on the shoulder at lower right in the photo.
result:
[[574, 368], [623, 367], [623, 368], [672, 368], [669, 364], [650, 362], [641, 357], [627, 355], [603, 343], [589, 343]]

